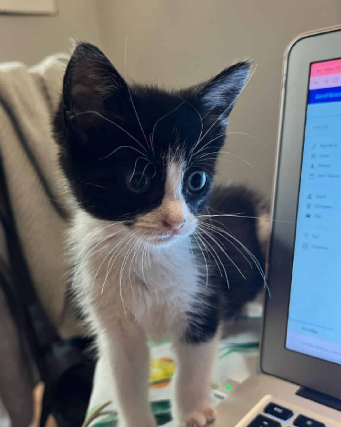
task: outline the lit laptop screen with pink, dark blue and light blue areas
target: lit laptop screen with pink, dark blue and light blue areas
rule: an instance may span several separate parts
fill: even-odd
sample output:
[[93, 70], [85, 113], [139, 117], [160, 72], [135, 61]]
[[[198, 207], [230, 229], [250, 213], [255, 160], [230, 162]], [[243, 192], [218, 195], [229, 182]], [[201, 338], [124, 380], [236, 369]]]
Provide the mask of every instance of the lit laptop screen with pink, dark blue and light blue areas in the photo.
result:
[[310, 66], [286, 348], [341, 364], [341, 59]]

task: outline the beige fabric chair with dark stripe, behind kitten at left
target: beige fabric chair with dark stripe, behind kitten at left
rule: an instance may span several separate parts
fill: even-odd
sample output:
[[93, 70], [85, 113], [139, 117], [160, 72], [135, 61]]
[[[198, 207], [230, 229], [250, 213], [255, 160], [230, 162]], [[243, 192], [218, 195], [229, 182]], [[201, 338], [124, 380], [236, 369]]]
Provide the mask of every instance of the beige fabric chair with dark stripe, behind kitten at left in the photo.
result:
[[[66, 304], [67, 211], [51, 118], [68, 61], [51, 56], [33, 68], [0, 65], [0, 156], [20, 245], [40, 302], [63, 338], [81, 330]], [[0, 228], [0, 270], [9, 286], [11, 266]], [[32, 418], [38, 380], [27, 342], [0, 286], [0, 425], [23, 427]]]

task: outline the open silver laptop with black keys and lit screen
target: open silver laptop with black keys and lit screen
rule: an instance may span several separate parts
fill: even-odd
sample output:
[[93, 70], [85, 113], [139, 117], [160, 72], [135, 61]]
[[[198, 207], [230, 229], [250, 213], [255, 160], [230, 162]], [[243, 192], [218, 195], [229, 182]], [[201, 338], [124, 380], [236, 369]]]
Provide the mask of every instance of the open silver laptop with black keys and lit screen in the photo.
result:
[[220, 427], [341, 426], [341, 27], [286, 50], [260, 374]]

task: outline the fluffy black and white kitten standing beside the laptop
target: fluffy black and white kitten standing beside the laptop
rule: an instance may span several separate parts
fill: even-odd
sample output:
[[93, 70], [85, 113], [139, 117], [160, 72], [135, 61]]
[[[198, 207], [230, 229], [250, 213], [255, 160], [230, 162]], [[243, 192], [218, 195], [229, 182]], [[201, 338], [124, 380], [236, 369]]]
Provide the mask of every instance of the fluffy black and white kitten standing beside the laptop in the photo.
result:
[[266, 229], [252, 219], [260, 214], [254, 194], [211, 191], [249, 68], [239, 62], [169, 92], [128, 85], [90, 44], [79, 44], [67, 66], [55, 133], [73, 212], [73, 285], [125, 427], [156, 425], [149, 338], [173, 339], [179, 425], [214, 420], [220, 325], [263, 285], [257, 233], [265, 238]]

